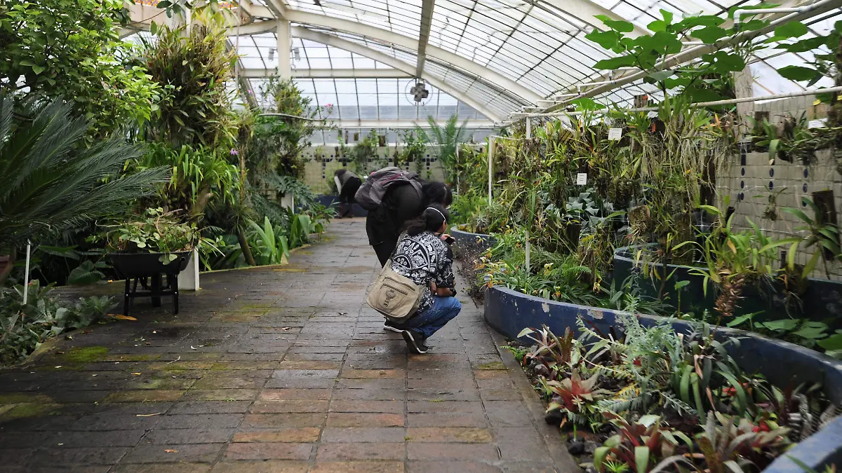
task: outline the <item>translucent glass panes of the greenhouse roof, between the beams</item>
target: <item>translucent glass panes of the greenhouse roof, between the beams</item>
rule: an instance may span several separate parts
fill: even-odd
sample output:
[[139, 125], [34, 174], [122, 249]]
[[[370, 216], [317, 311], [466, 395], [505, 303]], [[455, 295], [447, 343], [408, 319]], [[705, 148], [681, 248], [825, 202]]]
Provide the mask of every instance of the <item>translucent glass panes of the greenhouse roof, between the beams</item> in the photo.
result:
[[[252, 2], [266, 6], [264, 0]], [[321, 104], [333, 101], [337, 104], [334, 114], [343, 118], [346, 115], [371, 116], [375, 111], [381, 118], [384, 113], [388, 115], [390, 118], [386, 120], [410, 116], [413, 111], [418, 116], [419, 109], [414, 104], [402, 103], [407, 95], [406, 84], [411, 84], [411, 80], [363, 79], [360, 76], [365, 77], [365, 74], [355, 73], [360, 70], [391, 69], [396, 77], [412, 76], [418, 62], [414, 48], [386, 44], [382, 40], [365, 37], [360, 32], [336, 31], [326, 25], [330, 24], [328, 19], [345, 19], [417, 40], [423, 2], [288, 0], [287, 8], [326, 17], [323, 24], [301, 24], [301, 27], [353, 41], [402, 61], [399, 65], [386, 61], [399, 66], [399, 71], [393, 70], [392, 66], [357, 53], [294, 38], [293, 51], [290, 53], [294, 56], [292, 67], [300, 71], [302, 88], [317, 96]], [[569, 8], [571, 12], [586, 8], [591, 13], [610, 12], [631, 21], [638, 28], [646, 29], [647, 24], [661, 18], [661, 9], [674, 13], [678, 20], [696, 13], [720, 14], [734, 5], [749, 7], [760, 3], [760, 0], [435, 0], [430, 19], [430, 48], [424, 71], [429, 77], [446, 84], [445, 88], [450, 94], [435, 89], [436, 98], [423, 105], [424, 113], [434, 106], [439, 116], [443, 108], [452, 111], [451, 108], [456, 107], [459, 114], [476, 116], [476, 110], [466, 109], [464, 101], [468, 101], [488, 113], [505, 117], [530, 102], [528, 97], [517, 95], [519, 90], [513, 91], [505, 83], [495, 83], [499, 76], [517, 82], [545, 98], [575, 90], [578, 83], [601, 80], [597, 77], [602, 76], [604, 71], [594, 70], [593, 65], [596, 61], [610, 57], [611, 53], [584, 38], [594, 29], [594, 24], [599, 25], [600, 22], [593, 18], [577, 18], [573, 14], [581, 13], [565, 11], [572, 3], [581, 4]], [[840, 12], [842, 9], [837, 8], [809, 19], [806, 22], [810, 27], [809, 35], [826, 34], [839, 19]], [[765, 35], [765, 38], [769, 36]], [[278, 64], [279, 54], [286, 54], [276, 50], [276, 35], [272, 32], [232, 37], [231, 42], [237, 45], [241, 66], [246, 69], [272, 71]], [[447, 61], [446, 56], [445, 59], [441, 57], [439, 50], [461, 56], [477, 66]], [[775, 72], [775, 68], [811, 61], [812, 58], [809, 54], [793, 55], [781, 50], [760, 50], [757, 57], [750, 61], [754, 74], [754, 92], [767, 94], [801, 90], [804, 84], [784, 79]], [[482, 67], [496, 74], [483, 74], [480, 72]], [[337, 71], [333, 75], [336, 78], [322, 78], [331, 77], [323, 71], [314, 74], [318, 78], [304, 78], [307, 77], [308, 69], [332, 69]], [[436, 83], [442, 85], [441, 82]], [[823, 85], [823, 82], [818, 85]], [[432, 95], [434, 88], [428, 88]], [[635, 83], [605, 93], [600, 99], [626, 103], [642, 91], [657, 93], [647, 84]], [[410, 106], [413, 108], [408, 108]], [[371, 109], [367, 109], [369, 107]]]

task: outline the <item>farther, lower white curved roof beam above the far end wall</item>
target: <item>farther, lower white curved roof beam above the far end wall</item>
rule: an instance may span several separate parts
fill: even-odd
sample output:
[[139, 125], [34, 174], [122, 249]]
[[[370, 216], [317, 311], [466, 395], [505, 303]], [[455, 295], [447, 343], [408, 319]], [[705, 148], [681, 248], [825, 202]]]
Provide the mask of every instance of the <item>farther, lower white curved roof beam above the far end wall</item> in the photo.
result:
[[[289, 12], [290, 10], [287, 10], [287, 13]], [[412, 64], [401, 61], [400, 59], [396, 59], [379, 50], [372, 50], [371, 48], [366, 47], [365, 45], [354, 43], [354, 41], [344, 40], [342, 38], [339, 38], [338, 36], [320, 33], [318, 31], [313, 31], [312, 29], [303, 28], [301, 26], [292, 27], [292, 35], [296, 38], [311, 40], [317, 43], [322, 43], [322, 45], [331, 45], [342, 50], [354, 52], [356, 54], [359, 54], [360, 56], [365, 56], [369, 59], [373, 59], [377, 62], [386, 64], [386, 66], [394, 67], [398, 71], [406, 72], [407, 74], [411, 75], [415, 74], [415, 66], [413, 66]], [[452, 86], [450, 86], [450, 84], [440, 80], [437, 77], [431, 76], [428, 72], [424, 72], [421, 78], [432, 84], [434, 88], [438, 88], [442, 92], [448, 93], [451, 96], [458, 98], [462, 102], [470, 105], [472, 108], [477, 109], [480, 113], [487, 116], [489, 120], [492, 120], [494, 122], [500, 121], [500, 116], [493, 112], [491, 109], [488, 109], [488, 107], [486, 107], [484, 104], [480, 104], [473, 98], [469, 97], [466, 93], [461, 92], [456, 88], [453, 88]]]

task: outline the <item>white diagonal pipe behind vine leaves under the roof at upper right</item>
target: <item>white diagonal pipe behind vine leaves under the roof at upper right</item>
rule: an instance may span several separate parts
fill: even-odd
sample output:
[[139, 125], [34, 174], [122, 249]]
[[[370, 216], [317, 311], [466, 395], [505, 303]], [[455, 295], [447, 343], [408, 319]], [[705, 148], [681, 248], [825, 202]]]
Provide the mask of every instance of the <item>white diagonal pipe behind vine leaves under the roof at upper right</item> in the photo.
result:
[[[789, 10], [794, 10], [794, 11], [792, 11], [790, 14], [787, 14], [786, 16], [783, 16], [779, 19], [775, 19], [775, 20], [771, 21], [764, 28], [756, 29], [756, 30], [753, 30], [753, 31], [738, 32], [735, 35], [727, 36], [726, 38], [722, 38], [721, 40], [717, 40], [717, 42], [712, 44], [712, 45], [698, 45], [698, 46], [692, 47], [692, 48], [687, 49], [687, 50], [682, 50], [681, 52], [679, 52], [675, 56], [672, 56], [672, 57], [663, 59], [662, 61], [659, 61], [658, 64], [655, 65], [654, 68], [657, 69], [658, 71], [663, 71], [665, 69], [672, 68], [674, 66], [680, 66], [682, 63], [684, 63], [686, 61], [690, 61], [692, 59], [695, 59], [695, 57], [701, 56], [701, 54], [705, 54], [704, 50], [708, 50], [707, 52], [709, 52], [709, 51], [715, 50], [716, 48], [721, 48], [721, 47], [725, 47], [727, 45], [731, 45], [732, 43], [737, 42], [738, 40], [742, 40], [743, 38], [753, 39], [756, 36], [764, 35], [768, 31], [775, 29], [775, 27], [780, 26], [781, 24], [786, 24], [786, 23], [789, 23], [791, 20], [797, 19], [797, 17], [799, 17], [800, 15], [802, 15], [804, 13], [810, 13], [810, 12], [813, 12], [815, 10], [818, 10], [819, 8], [825, 8], [825, 7], [828, 7], [828, 10], [829, 10], [829, 9], [836, 8], [839, 5], [842, 5], [842, 0], [818, 0], [818, 2], [816, 2], [816, 3], [811, 3], [809, 5], [804, 5], [802, 7], [781, 8], [781, 9], [789, 9]], [[763, 12], [774, 13], [775, 9], [776, 8], [763, 8], [762, 11], [760, 11], [759, 13], [763, 13]], [[737, 11], [739, 11], [739, 10], [737, 10]], [[745, 14], [745, 12], [747, 12], [747, 11], [751, 12], [753, 10], [743, 9], [743, 12], [740, 13], [740, 14]], [[825, 10], [825, 11], [827, 11], [827, 10]], [[737, 12], [734, 12], [734, 13], [735, 13], [734, 16], [736, 17]], [[809, 17], [807, 17], [807, 18], [809, 18]], [[736, 21], [735, 21], [735, 23], [736, 23]], [[692, 55], [696, 55], [696, 56], [685, 59], [686, 56], [692, 56]], [[593, 82], [590, 85], [601, 86], [601, 85], [613, 85], [615, 83], [622, 85], [622, 84], [625, 84], [625, 83], [634, 82], [637, 79], [642, 79], [643, 77], [646, 77], [647, 74], [648, 74], [647, 71], [639, 71], [639, 72], [636, 72], [636, 73], [628, 75], [628, 76], [618, 77], [617, 79], [615, 79], [613, 81], [605, 81], [607, 83]], [[573, 99], [576, 99], [576, 98], [588, 98], [592, 94], [604, 92], [604, 91], [598, 90], [599, 87], [596, 87], [594, 89], [591, 89], [591, 90], [588, 90], [588, 91], [582, 93], [581, 88], [582, 88], [582, 86], [586, 86], [586, 85], [589, 85], [589, 84], [581, 84], [581, 85], [577, 86], [578, 94], [576, 95], [576, 97], [574, 97], [572, 99], [565, 100], [565, 101], [562, 102], [562, 104], [568, 104], [569, 102], [573, 101]], [[605, 92], [607, 92], [607, 91], [605, 91]]]

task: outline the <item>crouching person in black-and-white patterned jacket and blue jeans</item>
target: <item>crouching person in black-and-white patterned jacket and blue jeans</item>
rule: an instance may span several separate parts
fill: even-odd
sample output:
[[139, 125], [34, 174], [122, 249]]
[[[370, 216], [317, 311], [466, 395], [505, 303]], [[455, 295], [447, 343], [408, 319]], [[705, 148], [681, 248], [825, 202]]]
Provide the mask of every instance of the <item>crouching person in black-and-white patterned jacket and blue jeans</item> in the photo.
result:
[[445, 243], [448, 212], [441, 205], [429, 205], [408, 223], [406, 235], [397, 243], [392, 256], [392, 270], [424, 286], [418, 311], [408, 322], [398, 326], [386, 322], [384, 328], [400, 332], [413, 353], [427, 353], [425, 341], [459, 315], [462, 306], [456, 299], [453, 252]]

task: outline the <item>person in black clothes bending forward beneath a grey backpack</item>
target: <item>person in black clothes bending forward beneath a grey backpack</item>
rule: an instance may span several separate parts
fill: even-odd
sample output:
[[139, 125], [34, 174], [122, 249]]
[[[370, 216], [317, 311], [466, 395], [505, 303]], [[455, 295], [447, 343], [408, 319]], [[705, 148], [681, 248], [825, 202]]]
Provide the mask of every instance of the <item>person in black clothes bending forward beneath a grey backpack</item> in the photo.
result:
[[365, 219], [365, 233], [380, 265], [385, 265], [392, 255], [397, 238], [408, 221], [418, 218], [430, 205], [447, 208], [452, 202], [450, 187], [440, 182], [425, 182], [420, 192], [408, 183], [386, 190], [381, 206], [370, 210]]

